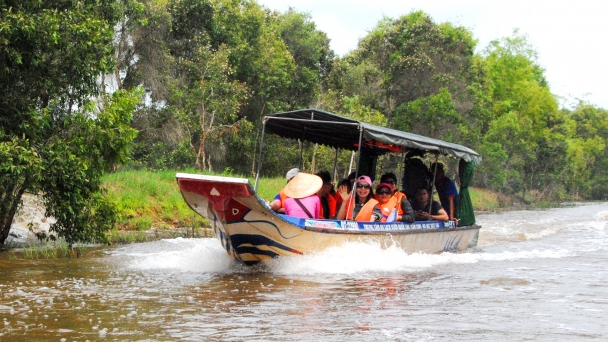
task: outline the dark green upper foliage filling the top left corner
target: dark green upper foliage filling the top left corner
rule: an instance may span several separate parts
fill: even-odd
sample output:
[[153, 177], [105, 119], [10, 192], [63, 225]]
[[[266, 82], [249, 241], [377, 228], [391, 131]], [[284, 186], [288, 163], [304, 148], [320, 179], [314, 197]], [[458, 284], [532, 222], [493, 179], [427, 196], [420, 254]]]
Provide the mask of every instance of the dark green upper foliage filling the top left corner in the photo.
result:
[[[0, 4], [2, 127], [49, 105], [77, 105], [96, 91], [99, 71], [113, 66], [116, 2], [3, 1]], [[6, 122], [5, 122], [6, 121]]]

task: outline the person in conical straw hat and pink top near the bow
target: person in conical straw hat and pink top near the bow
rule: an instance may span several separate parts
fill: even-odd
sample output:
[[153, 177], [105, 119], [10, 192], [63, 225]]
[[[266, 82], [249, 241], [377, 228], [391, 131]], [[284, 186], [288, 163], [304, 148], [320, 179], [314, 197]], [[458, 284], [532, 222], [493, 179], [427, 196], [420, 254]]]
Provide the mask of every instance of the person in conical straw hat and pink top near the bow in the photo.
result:
[[285, 213], [300, 218], [321, 217], [321, 200], [317, 192], [323, 187], [323, 180], [317, 175], [299, 172], [283, 188]]

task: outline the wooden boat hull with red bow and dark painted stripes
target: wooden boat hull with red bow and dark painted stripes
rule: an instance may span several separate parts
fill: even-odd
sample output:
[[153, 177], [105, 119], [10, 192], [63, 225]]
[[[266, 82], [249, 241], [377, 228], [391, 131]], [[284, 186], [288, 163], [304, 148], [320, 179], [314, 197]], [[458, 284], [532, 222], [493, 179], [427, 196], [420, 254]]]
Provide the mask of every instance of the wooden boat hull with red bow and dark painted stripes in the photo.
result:
[[228, 254], [246, 265], [355, 241], [396, 245], [407, 253], [462, 251], [477, 244], [481, 228], [441, 221], [407, 224], [293, 218], [270, 210], [247, 179], [180, 173], [176, 178], [188, 205], [209, 218]]

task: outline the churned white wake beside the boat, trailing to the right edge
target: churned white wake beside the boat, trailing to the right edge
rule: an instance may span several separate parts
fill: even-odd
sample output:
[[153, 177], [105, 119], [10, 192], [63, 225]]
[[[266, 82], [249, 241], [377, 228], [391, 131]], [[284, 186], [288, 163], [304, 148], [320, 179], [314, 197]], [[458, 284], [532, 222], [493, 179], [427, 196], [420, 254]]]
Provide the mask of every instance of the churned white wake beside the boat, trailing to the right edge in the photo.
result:
[[478, 247], [461, 253], [407, 254], [398, 246], [351, 242], [313, 254], [272, 259], [264, 268], [248, 268], [230, 258], [215, 238], [177, 238], [121, 246], [109, 254], [116, 256], [119, 267], [172, 274], [417, 273], [449, 264], [554, 259], [582, 251], [608, 249], [606, 209], [608, 203], [581, 205], [577, 209], [480, 215], [478, 222], [483, 228]]

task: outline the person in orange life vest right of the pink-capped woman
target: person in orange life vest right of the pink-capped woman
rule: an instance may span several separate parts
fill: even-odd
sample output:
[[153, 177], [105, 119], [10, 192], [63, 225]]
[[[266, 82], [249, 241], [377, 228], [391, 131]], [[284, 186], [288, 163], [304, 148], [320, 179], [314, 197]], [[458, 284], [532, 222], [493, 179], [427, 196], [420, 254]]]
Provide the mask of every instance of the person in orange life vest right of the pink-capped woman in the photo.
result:
[[416, 220], [410, 202], [405, 195], [400, 196], [398, 194], [393, 195], [393, 189], [389, 183], [380, 183], [376, 187], [377, 206], [382, 211], [380, 222], [399, 221], [412, 223]]

